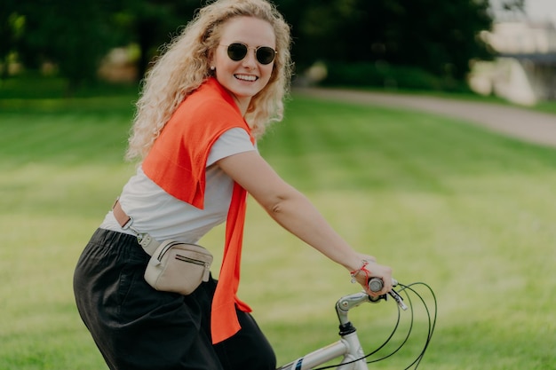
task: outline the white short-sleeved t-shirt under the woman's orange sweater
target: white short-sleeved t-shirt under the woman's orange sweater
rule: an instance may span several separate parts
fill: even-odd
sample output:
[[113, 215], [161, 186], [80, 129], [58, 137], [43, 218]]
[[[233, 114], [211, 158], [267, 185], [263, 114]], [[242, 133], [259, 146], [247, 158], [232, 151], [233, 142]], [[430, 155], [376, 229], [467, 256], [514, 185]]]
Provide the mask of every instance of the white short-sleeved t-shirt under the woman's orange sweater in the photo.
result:
[[[210, 148], [206, 168], [204, 209], [197, 209], [174, 198], [148, 178], [139, 167], [137, 173], [123, 186], [119, 201], [132, 218], [131, 228], [148, 232], [155, 240], [179, 240], [195, 243], [214, 226], [226, 221], [232, 200], [234, 180], [214, 163], [233, 154], [257, 150], [249, 134], [242, 129], [227, 130]], [[135, 235], [122, 229], [112, 211], [107, 213], [100, 228]]]

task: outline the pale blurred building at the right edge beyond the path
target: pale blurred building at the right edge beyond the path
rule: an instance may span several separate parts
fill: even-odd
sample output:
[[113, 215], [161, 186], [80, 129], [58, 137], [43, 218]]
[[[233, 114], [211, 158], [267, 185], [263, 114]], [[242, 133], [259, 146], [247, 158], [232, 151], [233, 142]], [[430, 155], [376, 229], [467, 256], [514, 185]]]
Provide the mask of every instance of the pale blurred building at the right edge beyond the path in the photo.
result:
[[556, 28], [552, 22], [513, 21], [481, 34], [496, 53], [493, 62], [474, 63], [473, 91], [522, 105], [556, 100]]

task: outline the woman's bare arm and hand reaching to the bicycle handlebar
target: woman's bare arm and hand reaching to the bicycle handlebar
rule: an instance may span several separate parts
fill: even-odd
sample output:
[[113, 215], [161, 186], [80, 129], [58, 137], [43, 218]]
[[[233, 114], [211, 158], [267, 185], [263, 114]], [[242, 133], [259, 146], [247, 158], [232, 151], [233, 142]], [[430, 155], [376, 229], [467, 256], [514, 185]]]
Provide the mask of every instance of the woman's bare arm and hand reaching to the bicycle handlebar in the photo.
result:
[[[367, 269], [371, 276], [382, 278], [385, 283], [379, 294], [392, 288], [392, 270], [377, 264], [374, 257], [353, 250], [306, 196], [282, 180], [257, 152], [231, 155], [218, 161], [218, 166], [242, 185], [286, 230], [350, 272], [360, 269], [363, 260], [369, 261]], [[365, 287], [364, 274], [360, 273], [356, 278]]]

